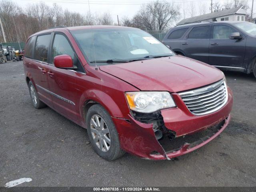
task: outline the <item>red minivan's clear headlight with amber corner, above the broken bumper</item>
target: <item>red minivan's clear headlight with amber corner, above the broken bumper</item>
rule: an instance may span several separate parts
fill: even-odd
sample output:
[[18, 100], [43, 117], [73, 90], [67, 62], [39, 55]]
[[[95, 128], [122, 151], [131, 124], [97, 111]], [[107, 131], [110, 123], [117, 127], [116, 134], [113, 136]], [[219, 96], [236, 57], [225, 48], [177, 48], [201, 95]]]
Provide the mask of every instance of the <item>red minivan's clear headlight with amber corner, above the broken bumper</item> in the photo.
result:
[[125, 95], [130, 109], [138, 112], [150, 113], [176, 106], [166, 91], [126, 92]]

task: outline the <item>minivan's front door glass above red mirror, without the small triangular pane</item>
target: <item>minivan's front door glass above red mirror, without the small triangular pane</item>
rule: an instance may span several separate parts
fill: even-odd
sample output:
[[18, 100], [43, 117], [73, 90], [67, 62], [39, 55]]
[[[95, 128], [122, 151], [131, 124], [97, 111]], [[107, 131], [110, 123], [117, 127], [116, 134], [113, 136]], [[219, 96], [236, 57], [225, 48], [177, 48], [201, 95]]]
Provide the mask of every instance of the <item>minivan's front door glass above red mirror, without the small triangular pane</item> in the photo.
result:
[[66, 37], [60, 34], [56, 34], [54, 36], [54, 42], [52, 45], [52, 63], [53, 63], [53, 58], [55, 56], [63, 55], [63, 54], [67, 54], [72, 59], [74, 59], [74, 51], [70, 46]]

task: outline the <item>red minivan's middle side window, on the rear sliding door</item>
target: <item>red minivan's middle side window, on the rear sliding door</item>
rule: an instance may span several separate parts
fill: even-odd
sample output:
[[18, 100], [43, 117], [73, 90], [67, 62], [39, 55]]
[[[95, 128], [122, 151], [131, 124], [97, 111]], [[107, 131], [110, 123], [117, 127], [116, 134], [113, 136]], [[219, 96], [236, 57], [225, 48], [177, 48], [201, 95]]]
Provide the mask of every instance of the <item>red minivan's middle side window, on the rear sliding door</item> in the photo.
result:
[[40, 35], [36, 39], [35, 59], [48, 62], [48, 48], [50, 45], [51, 34]]

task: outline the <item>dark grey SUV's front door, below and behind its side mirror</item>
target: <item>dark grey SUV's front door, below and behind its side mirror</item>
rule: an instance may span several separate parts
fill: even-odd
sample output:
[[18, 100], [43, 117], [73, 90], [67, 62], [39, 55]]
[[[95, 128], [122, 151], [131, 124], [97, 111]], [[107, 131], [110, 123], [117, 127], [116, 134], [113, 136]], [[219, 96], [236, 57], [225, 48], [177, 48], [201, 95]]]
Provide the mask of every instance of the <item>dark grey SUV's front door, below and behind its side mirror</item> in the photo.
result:
[[238, 31], [228, 25], [214, 24], [209, 49], [211, 65], [243, 67], [246, 39], [230, 39], [233, 32]]

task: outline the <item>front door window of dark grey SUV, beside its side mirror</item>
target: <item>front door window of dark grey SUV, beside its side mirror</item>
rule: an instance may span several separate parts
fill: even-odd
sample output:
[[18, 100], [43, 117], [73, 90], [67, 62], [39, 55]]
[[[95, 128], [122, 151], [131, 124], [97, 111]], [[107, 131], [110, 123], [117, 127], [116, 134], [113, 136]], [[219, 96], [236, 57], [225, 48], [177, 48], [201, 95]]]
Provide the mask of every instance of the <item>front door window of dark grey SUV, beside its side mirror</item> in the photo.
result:
[[213, 38], [214, 39], [229, 39], [230, 35], [237, 32], [233, 28], [226, 25], [214, 25]]

